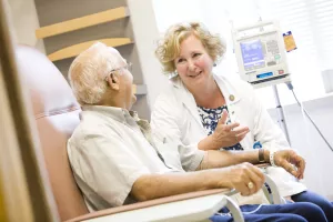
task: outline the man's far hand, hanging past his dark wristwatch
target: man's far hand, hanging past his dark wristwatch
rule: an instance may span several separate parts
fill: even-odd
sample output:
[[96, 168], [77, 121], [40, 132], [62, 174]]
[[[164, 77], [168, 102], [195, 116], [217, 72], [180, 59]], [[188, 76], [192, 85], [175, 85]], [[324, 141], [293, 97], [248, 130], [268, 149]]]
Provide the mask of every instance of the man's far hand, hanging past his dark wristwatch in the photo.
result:
[[274, 154], [275, 165], [283, 168], [296, 179], [304, 178], [305, 161], [293, 150], [279, 150]]

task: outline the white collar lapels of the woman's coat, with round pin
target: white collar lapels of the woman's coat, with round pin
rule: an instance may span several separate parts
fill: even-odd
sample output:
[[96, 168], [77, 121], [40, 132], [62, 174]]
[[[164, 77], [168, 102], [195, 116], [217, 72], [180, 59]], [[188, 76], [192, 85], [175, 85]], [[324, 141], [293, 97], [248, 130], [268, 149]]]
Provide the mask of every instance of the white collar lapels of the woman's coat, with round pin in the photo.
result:
[[[220, 90], [222, 91], [226, 105], [233, 105], [234, 103], [241, 100], [240, 94], [238, 93], [234, 85], [230, 83], [230, 81], [221, 75], [213, 74]], [[202, 127], [202, 122], [199, 117], [198, 107], [192, 93], [186, 89], [181, 79], [175, 75], [170, 78], [171, 83], [176, 92], [176, 98], [181, 98], [181, 102], [189, 110], [195, 121]], [[202, 128], [203, 129], [203, 128]]]

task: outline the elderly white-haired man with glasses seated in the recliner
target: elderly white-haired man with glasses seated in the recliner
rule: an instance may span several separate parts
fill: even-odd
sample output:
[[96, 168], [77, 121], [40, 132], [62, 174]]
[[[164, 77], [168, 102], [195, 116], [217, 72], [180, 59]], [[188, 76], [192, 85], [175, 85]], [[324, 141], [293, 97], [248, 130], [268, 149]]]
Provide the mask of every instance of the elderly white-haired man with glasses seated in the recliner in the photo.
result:
[[[251, 164], [259, 162], [258, 151], [225, 151], [214, 157], [185, 148], [176, 154], [165, 152], [163, 145], [170, 143], [153, 140], [149, 123], [129, 111], [135, 102], [129, 67], [115, 49], [95, 43], [69, 70], [83, 111], [68, 141], [68, 154], [90, 211], [214, 188], [234, 188], [242, 195], [261, 189], [264, 176]], [[299, 170], [292, 173], [302, 176], [302, 159], [289, 152], [278, 151], [276, 164], [297, 162]], [[263, 154], [268, 162], [270, 153]], [[202, 170], [206, 168], [215, 169]], [[311, 203], [241, 208], [256, 209], [244, 215], [246, 221], [326, 221]], [[216, 214], [211, 220], [232, 218]]]

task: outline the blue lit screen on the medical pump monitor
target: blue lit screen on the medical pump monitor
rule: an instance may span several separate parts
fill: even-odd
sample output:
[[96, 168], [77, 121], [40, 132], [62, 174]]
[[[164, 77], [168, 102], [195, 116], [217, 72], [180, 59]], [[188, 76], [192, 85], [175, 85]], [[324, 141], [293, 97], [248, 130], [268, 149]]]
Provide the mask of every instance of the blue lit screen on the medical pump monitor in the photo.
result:
[[245, 70], [252, 70], [265, 65], [264, 53], [260, 40], [241, 42], [241, 51]]

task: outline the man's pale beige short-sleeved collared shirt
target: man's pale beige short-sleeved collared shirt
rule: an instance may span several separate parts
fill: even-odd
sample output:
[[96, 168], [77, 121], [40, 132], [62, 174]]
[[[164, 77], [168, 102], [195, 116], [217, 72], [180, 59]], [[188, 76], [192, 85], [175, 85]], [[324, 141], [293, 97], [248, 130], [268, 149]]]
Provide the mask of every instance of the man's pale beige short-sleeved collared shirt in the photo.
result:
[[[137, 122], [142, 123], [124, 109], [83, 107], [81, 122], [68, 141], [68, 154], [90, 211], [135, 202], [130, 192], [142, 175], [183, 172], [181, 160], [164, 160], [158, 148], [162, 145], [150, 140], [149, 129]], [[200, 164], [203, 153], [188, 157]]]

